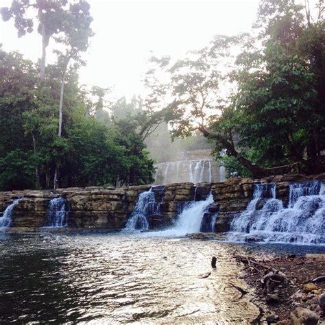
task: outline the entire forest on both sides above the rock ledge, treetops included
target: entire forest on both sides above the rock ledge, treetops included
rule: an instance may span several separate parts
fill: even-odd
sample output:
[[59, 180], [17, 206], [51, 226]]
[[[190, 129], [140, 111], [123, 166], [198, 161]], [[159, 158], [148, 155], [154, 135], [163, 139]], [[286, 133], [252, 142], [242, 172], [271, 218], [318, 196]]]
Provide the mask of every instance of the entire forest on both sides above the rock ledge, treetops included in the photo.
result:
[[14, 0], [1, 14], [43, 49], [38, 62], [0, 50], [1, 190], [150, 183], [146, 143], [168, 160], [169, 131], [196, 134], [185, 147], [213, 148], [239, 176], [325, 170], [323, 0], [263, 0], [251, 34], [217, 35], [182, 60], [152, 57], [147, 95], [114, 102], [78, 82], [93, 36], [86, 1]]

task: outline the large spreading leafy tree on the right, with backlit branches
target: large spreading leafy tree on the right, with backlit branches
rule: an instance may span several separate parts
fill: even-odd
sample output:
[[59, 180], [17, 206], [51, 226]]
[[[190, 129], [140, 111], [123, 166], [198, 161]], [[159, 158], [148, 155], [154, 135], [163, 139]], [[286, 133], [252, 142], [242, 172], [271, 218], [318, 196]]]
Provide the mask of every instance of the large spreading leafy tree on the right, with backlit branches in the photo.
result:
[[[172, 100], [165, 118], [173, 135], [200, 130], [216, 156], [225, 151], [254, 177], [298, 162], [307, 173], [324, 170], [323, 1], [317, 9], [313, 21], [308, 4], [262, 1], [257, 36], [216, 36], [209, 47], [167, 64]], [[223, 95], [221, 83], [232, 93]]]

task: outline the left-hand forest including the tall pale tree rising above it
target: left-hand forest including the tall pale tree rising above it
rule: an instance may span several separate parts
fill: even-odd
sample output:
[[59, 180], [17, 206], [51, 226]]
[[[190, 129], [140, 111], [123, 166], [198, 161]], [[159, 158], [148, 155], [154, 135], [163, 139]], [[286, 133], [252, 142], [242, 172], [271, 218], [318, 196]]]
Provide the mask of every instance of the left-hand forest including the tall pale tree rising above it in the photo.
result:
[[[78, 84], [81, 53], [93, 34], [88, 3], [13, 1], [1, 13], [15, 20], [19, 36], [34, 32], [29, 7], [42, 35], [41, 60], [0, 51], [0, 189], [152, 182], [154, 162], [136, 116], [123, 100], [109, 113], [108, 89]], [[55, 64], [45, 63], [49, 38], [61, 49]]]

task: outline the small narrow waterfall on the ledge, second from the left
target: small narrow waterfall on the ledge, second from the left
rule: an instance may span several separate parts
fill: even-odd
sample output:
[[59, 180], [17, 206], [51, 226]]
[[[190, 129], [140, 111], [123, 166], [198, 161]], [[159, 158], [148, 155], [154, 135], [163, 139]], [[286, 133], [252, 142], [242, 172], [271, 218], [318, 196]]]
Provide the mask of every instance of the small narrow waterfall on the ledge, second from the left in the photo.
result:
[[66, 227], [68, 225], [66, 202], [63, 197], [56, 197], [49, 202], [45, 227]]

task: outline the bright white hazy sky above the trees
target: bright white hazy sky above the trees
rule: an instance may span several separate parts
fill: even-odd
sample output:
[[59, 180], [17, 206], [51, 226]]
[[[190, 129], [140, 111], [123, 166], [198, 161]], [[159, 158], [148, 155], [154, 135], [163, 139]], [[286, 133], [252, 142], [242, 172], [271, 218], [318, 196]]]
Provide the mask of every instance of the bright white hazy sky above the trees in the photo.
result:
[[[87, 66], [80, 82], [113, 86], [116, 97], [143, 93], [141, 79], [151, 55], [182, 58], [186, 51], [204, 47], [215, 34], [249, 32], [258, 0], [88, 0], [95, 36], [84, 54]], [[0, 6], [11, 0], [0, 0]], [[37, 60], [41, 40], [37, 33], [18, 38], [12, 21], [0, 23], [5, 51], [19, 50]], [[51, 43], [50, 43], [51, 45]], [[48, 59], [53, 61], [51, 49]]]

